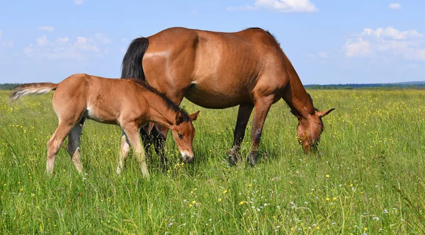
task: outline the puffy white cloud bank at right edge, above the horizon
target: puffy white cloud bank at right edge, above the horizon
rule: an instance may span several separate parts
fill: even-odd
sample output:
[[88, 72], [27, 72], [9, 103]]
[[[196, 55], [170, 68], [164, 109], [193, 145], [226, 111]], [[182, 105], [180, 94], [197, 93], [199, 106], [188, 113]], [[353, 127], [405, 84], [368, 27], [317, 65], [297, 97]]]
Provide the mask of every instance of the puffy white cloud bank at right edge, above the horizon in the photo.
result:
[[425, 34], [417, 30], [400, 31], [392, 27], [363, 29], [347, 38], [343, 49], [346, 57], [402, 57], [425, 60]]

